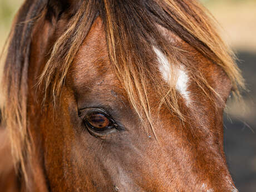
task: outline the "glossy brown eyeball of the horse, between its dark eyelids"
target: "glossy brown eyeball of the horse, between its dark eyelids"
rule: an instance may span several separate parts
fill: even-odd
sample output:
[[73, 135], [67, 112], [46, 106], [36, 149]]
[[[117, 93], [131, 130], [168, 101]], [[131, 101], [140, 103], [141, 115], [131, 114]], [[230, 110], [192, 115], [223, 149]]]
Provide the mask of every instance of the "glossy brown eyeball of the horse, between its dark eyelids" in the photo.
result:
[[110, 125], [110, 120], [104, 114], [100, 113], [88, 115], [87, 121], [91, 126], [97, 129], [103, 129]]

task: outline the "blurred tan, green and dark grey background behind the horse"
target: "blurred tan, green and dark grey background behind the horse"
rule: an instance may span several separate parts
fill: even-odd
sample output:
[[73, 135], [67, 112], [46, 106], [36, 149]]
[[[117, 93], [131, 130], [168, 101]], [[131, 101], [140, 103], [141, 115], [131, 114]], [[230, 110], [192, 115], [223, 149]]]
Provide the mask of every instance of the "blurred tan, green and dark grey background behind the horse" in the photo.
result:
[[[0, 50], [22, 0], [0, 0]], [[223, 27], [247, 83], [244, 104], [228, 101], [224, 143], [229, 170], [240, 192], [256, 191], [256, 0], [201, 0]]]

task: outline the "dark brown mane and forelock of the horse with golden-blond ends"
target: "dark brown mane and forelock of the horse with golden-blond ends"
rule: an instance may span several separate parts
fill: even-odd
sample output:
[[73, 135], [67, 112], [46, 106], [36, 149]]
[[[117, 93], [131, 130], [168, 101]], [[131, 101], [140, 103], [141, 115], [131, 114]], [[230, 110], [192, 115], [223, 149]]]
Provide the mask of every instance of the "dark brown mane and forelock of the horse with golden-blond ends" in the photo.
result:
[[[55, 100], [60, 96], [68, 69], [97, 17], [102, 19], [105, 27], [107, 50], [112, 66], [141, 119], [146, 116], [149, 122], [152, 122], [147, 99], [147, 83], [152, 82], [152, 85], [157, 87], [156, 90], [159, 90], [159, 105], [165, 105], [181, 121], [184, 120], [178, 104], [179, 93], [175, 86], [164, 86], [151, 66], [147, 65], [152, 47], [159, 48], [172, 63], [171, 77], [175, 77], [176, 68], [180, 63], [193, 70], [193, 66], [184, 61], [184, 52], [171, 46], [157, 26], [165, 27], [211, 62], [221, 66], [231, 80], [236, 95], [239, 96], [239, 88], [244, 87], [244, 80], [234, 62], [233, 52], [218, 35], [218, 25], [214, 18], [198, 1], [90, 0], [80, 1], [76, 7], [66, 31], [52, 47], [50, 59], [40, 76], [39, 85], [45, 93], [45, 99], [48, 95], [52, 95]], [[3, 121], [11, 137], [14, 162], [21, 165], [25, 179], [25, 164], [29, 163], [28, 154], [32, 151], [27, 129], [31, 33], [37, 18], [47, 17], [52, 9], [51, 0], [24, 2], [10, 33], [4, 63]], [[197, 70], [194, 69], [193, 72], [194, 80], [202, 89], [214, 92]], [[140, 102], [136, 102], [135, 98], [139, 98]]]

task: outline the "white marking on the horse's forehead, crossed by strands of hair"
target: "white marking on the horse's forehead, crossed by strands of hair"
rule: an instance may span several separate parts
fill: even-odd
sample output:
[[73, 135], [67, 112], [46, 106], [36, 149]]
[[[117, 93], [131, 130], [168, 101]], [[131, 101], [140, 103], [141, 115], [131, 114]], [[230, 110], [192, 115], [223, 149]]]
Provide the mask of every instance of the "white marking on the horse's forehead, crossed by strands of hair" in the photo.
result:
[[[168, 58], [158, 48], [154, 47], [154, 51], [157, 55], [157, 60], [160, 63], [159, 71], [161, 72], [164, 80], [166, 82], [169, 82], [171, 67], [170, 67]], [[178, 80], [176, 82], [176, 89], [184, 97], [187, 104], [189, 104], [189, 102], [190, 102], [189, 91], [188, 91], [188, 81], [189, 81], [189, 77], [188, 77], [188, 75], [186, 75], [186, 72], [184, 71], [184, 67], [181, 66], [178, 71]]]

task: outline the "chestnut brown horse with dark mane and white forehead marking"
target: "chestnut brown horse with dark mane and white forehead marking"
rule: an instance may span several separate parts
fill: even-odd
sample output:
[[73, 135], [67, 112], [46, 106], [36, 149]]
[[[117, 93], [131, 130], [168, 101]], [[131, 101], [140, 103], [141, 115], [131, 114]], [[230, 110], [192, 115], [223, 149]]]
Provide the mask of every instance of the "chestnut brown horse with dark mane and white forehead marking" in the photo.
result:
[[198, 1], [26, 0], [5, 50], [2, 191], [238, 191], [223, 112], [244, 81]]

